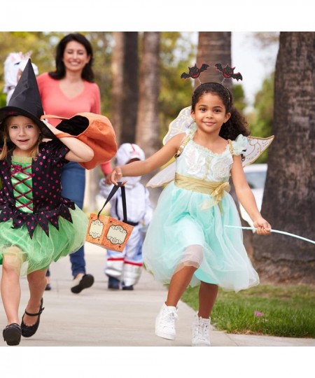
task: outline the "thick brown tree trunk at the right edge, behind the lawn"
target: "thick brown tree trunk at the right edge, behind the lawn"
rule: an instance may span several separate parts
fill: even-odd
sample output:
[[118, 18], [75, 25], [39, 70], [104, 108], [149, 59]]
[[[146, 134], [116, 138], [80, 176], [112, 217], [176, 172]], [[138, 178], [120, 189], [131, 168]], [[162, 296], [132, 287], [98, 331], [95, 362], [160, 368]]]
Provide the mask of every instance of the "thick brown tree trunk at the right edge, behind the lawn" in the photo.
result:
[[[281, 32], [262, 216], [275, 230], [315, 240], [315, 32]], [[315, 283], [315, 246], [279, 234], [253, 237], [262, 278]]]

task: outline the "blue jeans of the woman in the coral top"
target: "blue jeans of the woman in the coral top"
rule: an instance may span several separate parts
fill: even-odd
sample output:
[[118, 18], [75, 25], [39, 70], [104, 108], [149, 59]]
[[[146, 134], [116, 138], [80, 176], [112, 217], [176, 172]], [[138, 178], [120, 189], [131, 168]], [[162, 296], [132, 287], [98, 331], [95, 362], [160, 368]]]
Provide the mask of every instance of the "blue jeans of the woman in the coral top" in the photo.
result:
[[[83, 208], [85, 190], [85, 169], [77, 162], [69, 162], [62, 168], [62, 197], [76, 203]], [[72, 275], [85, 274], [84, 246], [70, 255]]]

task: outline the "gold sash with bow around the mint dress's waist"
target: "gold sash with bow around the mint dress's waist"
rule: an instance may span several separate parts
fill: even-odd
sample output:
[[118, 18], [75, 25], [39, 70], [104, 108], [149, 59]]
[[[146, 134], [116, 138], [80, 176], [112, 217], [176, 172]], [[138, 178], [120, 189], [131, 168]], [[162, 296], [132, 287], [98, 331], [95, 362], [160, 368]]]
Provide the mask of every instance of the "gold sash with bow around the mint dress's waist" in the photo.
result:
[[[230, 184], [228, 181], [204, 181], [176, 173], [174, 183], [178, 188], [211, 195], [211, 197], [214, 197], [212, 206], [222, 200], [225, 192], [230, 192]], [[202, 204], [202, 209], [208, 209], [209, 207], [211, 207], [210, 203]]]

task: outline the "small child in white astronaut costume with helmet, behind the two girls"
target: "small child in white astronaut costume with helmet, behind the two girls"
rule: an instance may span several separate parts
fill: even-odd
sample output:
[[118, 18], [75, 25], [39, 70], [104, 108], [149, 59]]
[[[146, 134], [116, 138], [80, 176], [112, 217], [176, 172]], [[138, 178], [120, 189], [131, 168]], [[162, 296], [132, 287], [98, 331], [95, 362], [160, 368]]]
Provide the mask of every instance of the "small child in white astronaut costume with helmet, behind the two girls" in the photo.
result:
[[[144, 159], [144, 151], [137, 144], [122, 144], [116, 153], [117, 165]], [[144, 229], [151, 221], [153, 209], [148, 189], [140, 183], [141, 176], [124, 177], [124, 180], [127, 180], [125, 184], [127, 223], [133, 225], [134, 230], [132, 230], [132, 235], [122, 253], [107, 250], [107, 264], [104, 273], [109, 277], [108, 288], [119, 289], [121, 287], [123, 290], [133, 290], [141, 276]], [[102, 196], [107, 198], [113, 186], [106, 184], [106, 179], [102, 179], [99, 186]], [[110, 204], [111, 216], [122, 221], [123, 204], [120, 190], [113, 196]]]

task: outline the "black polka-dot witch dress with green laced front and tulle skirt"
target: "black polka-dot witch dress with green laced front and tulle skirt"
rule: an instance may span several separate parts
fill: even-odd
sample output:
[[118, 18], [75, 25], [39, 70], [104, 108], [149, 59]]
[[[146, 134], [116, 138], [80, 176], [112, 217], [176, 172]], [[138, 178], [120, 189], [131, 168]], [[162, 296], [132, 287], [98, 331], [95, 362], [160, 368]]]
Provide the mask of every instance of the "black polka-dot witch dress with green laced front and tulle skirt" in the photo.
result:
[[83, 246], [87, 216], [61, 196], [60, 174], [68, 148], [43, 144], [36, 160], [1, 161], [0, 263], [23, 276]]

